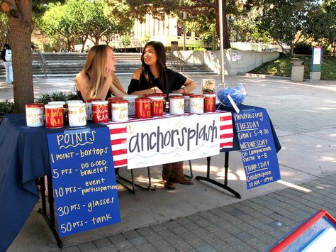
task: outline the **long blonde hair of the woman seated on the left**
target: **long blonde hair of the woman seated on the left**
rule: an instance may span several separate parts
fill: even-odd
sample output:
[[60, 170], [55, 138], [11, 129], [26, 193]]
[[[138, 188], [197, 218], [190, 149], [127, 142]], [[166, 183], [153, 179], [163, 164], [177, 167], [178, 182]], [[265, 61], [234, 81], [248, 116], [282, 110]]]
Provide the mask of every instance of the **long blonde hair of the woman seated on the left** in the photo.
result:
[[96, 94], [99, 92], [99, 89], [103, 87], [103, 82], [105, 81], [105, 62], [108, 48], [113, 50], [109, 45], [94, 45], [86, 57], [82, 72], [89, 77], [89, 94], [92, 98], [96, 97]]

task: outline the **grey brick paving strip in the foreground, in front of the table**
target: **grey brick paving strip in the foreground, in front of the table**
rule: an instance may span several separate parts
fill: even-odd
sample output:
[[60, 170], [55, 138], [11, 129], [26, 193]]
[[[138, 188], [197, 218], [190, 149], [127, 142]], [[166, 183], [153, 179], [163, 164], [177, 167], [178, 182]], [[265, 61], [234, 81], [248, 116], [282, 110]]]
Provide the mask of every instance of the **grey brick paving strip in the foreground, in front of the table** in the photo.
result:
[[300, 187], [56, 251], [265, 251], [320, 209], [336, 217], [336, 174]]

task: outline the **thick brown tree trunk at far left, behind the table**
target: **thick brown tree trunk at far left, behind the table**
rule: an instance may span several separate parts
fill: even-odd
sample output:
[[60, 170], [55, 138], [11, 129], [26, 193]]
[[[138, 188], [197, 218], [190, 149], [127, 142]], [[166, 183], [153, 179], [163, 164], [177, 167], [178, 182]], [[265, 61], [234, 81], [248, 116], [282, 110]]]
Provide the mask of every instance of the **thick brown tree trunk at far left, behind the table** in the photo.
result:
[[[31, 41], [31, 1], [11, 1], [16, 12], [9, 17], [9, 38], [13, 52], [13, 96], [16, 113], [24, 113], [34, 102]], [[14, 17], [17, 16], [17, 17]]]

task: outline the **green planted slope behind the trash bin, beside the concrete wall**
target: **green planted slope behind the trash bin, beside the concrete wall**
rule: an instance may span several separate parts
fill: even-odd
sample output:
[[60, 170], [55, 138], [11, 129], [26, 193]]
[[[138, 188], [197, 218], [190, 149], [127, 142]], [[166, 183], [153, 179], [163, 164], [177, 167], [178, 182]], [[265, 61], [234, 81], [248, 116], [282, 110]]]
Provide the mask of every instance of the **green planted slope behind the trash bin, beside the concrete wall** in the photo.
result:
[[[267, 62], [261, 67], [258, 67], [250, 72], [262, 75], [291, 77], [291, 66], [293, 60], [303, 60], [305, 62], [304, 78], [309, 79], [310, 65], [311, 65], [310, 56], [299, 56], [299, 57], [280, 56], [279, 59]], [[336, 57], [322, 58], [321, 80], [336, 80]]]

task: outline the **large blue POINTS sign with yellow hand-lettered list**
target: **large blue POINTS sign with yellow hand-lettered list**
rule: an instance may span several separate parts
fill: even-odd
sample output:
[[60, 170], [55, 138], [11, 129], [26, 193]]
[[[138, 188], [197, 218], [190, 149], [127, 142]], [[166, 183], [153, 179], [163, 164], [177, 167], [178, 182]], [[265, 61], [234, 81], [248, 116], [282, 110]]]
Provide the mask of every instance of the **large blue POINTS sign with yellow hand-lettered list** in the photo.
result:
[[121, 221], [107, 127], [48, 134], [60, 236]]

